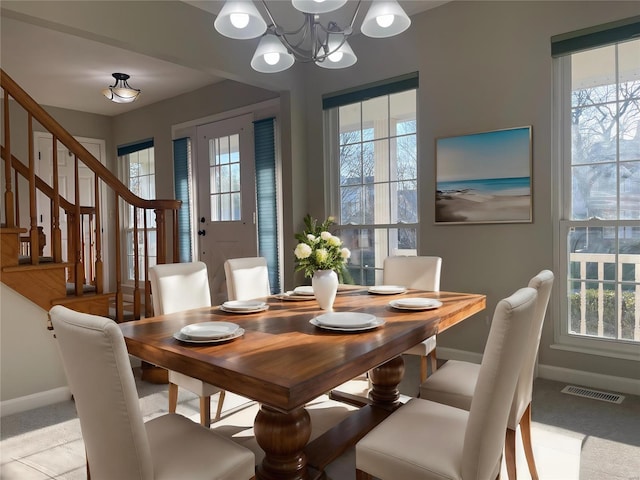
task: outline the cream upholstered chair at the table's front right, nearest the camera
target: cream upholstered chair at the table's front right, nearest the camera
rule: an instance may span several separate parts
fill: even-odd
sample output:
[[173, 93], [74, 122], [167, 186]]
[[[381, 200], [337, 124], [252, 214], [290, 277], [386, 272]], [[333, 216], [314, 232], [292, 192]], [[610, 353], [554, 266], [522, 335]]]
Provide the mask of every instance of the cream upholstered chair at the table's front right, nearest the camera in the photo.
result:
[[357, 480], [498, 477], [536, 298], [526, 287], [498, 302], [471, 409], [410, 400], [356, 444]]

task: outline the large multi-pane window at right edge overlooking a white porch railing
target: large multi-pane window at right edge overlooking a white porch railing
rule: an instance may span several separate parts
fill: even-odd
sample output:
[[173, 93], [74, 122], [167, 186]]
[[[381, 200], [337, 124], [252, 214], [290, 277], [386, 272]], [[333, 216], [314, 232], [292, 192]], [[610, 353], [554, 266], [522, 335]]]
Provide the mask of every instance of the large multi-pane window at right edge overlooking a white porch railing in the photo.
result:
[[557, 60], [561, 334], [640, 343], [640, 40]]

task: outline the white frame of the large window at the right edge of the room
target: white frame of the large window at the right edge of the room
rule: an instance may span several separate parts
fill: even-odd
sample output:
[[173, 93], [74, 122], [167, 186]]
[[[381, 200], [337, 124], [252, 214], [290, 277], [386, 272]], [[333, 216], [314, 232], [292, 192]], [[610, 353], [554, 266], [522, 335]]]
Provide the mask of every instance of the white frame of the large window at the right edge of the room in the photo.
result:
[[569, 332], [568, 305], [568, 252], [566, 239], [569, 229], [580, 223], [585, 226], [637, 226], [637, 221], [593, 220], [574, 222], [566, 215], [566, 206], [571, 205], [571, 124], [567, 112], [571, 110], [571, 56], [553, 59], [553, 119], [552, 119], [552, 158], [556, 175], [552, 180], [553, 191], [553, 246], [556, 252], [554, 268], [558, 272], [555, 301], [552, 303], [554, 323], [554, 341], [551, 348], [558, 350], [600, 355], [640, 361], [638, 343], [587, 337]]

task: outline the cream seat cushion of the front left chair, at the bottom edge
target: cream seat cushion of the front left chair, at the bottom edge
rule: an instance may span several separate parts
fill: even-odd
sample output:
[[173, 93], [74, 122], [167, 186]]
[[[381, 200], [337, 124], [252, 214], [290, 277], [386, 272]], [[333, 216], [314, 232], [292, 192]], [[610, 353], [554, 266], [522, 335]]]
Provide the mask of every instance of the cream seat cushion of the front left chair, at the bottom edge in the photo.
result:
[[156, 417], [145, 427], [154, 480], [240, 480], [255, 475], [253, 452], [182, 415]]

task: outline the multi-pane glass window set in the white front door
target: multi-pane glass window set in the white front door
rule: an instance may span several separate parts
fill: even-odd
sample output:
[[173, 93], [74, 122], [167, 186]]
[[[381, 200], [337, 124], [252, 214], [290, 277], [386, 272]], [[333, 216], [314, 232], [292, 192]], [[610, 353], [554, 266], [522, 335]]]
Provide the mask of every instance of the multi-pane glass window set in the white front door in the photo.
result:
[[209, 140], [211, 221], [241, 219], [240, 135]]

